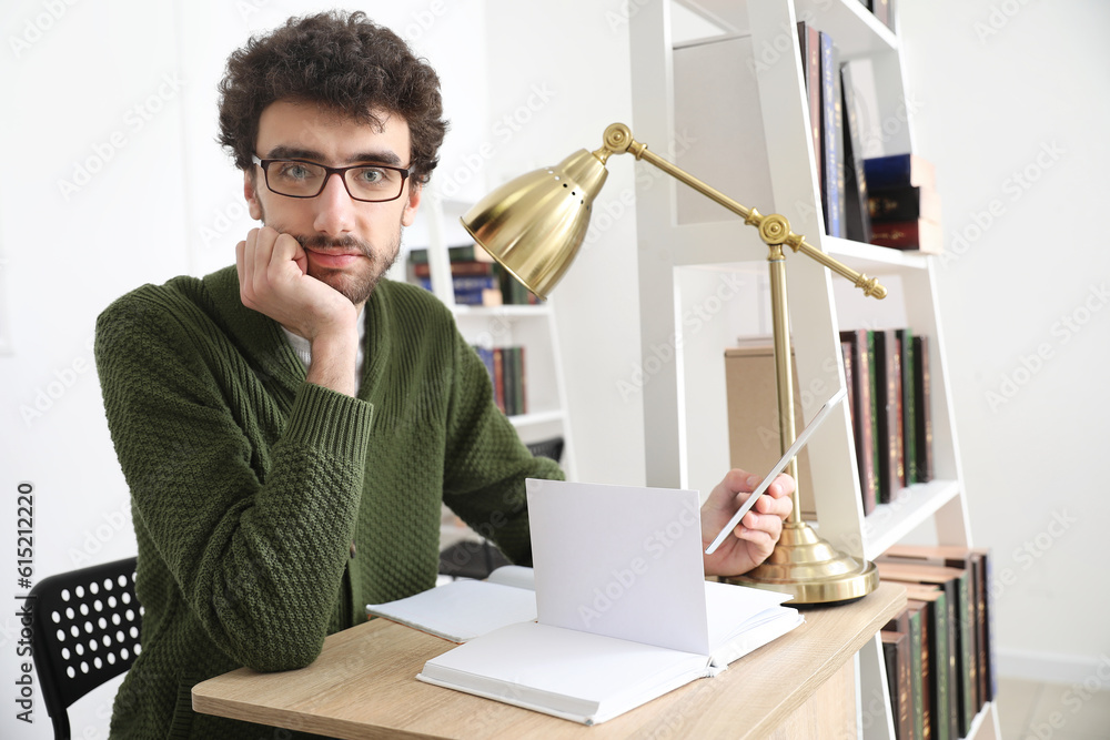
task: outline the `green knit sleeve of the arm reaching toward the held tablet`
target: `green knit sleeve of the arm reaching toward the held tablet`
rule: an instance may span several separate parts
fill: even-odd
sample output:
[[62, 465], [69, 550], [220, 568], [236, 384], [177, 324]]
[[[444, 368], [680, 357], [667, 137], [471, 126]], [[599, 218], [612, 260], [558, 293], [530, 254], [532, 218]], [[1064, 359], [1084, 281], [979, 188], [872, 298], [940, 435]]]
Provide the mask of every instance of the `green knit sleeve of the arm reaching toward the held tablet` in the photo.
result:
[[488, 372], [456, 335], [454, 393], [447, 418], [443, 500], [509, 560], [532, 565], [526, 478], [563, 479], [551, 459], [533, 457], [493, 401]]

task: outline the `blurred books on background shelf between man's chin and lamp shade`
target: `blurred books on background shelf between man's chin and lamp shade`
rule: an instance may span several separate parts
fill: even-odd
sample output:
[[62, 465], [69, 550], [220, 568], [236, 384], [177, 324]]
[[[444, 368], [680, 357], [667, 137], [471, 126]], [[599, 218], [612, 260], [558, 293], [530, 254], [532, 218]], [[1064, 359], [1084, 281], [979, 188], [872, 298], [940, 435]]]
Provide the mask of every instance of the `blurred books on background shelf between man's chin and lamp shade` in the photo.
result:
[[[455, 305], [501, 306], [539, 303], [528, 288], [521, 285], [485, 250], [475, 244], [447, 247], [451, 264], [451, 283]], [[432, 268], [427, 250], [408, 252], [408, 281], [432, 290]]]

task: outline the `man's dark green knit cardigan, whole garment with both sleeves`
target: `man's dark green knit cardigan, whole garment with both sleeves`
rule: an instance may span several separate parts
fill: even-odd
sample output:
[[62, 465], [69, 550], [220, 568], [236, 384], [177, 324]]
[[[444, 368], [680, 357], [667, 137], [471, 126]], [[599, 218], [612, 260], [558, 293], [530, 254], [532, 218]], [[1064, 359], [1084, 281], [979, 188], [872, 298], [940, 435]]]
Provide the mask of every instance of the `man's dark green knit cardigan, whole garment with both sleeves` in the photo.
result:
[[276, 322], [242, 305], [234, 267], [145, 285], [99, 317], [144, 609], [112, 738], [273, 736], [193, 712], [190, 689], [307, 666], [366, 604], [431, 588], [442, 503], [531, 562], [524, 479], [558, 467], [521, 444], [430, 293], [382, 281], [365, 321], [351, 398], [305, 383]]

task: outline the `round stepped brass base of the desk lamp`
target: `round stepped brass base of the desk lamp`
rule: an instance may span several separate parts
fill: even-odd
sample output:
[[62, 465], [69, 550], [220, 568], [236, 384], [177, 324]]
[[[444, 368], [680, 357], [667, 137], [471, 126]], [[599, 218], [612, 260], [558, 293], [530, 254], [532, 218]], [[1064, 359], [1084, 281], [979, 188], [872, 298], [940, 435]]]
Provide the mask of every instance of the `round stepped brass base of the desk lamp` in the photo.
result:
[[805, 523], [783, 525], [783, 536], [767, 560], [730, 584], [794, 596], [794, 605], [855, 601], [879, 586], [874, 562], [838, 553]]

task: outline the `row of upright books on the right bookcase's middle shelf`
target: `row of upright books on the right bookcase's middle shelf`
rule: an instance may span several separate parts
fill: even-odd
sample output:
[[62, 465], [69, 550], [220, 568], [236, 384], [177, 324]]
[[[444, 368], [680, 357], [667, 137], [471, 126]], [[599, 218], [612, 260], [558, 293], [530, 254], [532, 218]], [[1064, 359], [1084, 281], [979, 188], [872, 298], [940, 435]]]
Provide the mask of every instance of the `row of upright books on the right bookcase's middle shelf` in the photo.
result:
[[840, 332], [864, 514], [932, 480], [929, 337], [909, 328]]

